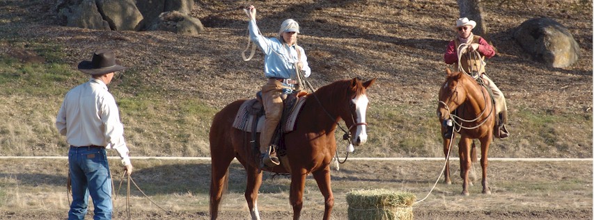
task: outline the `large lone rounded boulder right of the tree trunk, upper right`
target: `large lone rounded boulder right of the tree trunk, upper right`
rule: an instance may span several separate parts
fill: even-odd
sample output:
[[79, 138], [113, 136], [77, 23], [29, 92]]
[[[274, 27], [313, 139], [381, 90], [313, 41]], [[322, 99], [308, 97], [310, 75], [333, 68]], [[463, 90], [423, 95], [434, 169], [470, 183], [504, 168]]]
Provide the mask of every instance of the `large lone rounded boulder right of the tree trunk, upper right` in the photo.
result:
[[568, 67], [579, 58], [579, 45], [565, 26], [547, 17], [529, 19], [514, 33], [527, 53], [550, 67]]

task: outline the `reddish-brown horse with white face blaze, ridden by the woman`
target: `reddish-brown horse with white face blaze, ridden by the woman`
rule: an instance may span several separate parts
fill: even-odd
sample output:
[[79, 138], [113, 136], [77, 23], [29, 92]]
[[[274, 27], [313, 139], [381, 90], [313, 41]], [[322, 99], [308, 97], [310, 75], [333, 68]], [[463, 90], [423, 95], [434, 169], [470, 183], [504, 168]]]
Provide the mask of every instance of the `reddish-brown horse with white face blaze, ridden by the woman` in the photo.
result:
[[[366, 89], [375, 82], [375, 78], [362, 82], [357, 78], [336, 81], [320, 87], [309, 94], [299, 113], [295, 129], [283, 135], [286, 146], [286, 160], [265, 171], [289, 173], [291, 176], [290, 204], [293, 207], [293, 219], [299, 219], [303, 205], [303, 191], [308, 174], [318, 183], [318, 188], [325, 198], [324, 218], [330, 218], [334, 206], [334, 196], [330, 187], [330, 162], [336, 152], [334, 131], [341, 119], [344, 119], [352, 133], [352, 144], [359, 146], [367, 140], [366, 110], [368, 98]], [[253, 160], [259, 152], [254, 152], [251, 134], [232, 127], [235, 113], [245, 100], [235, 101], [214, 115], [210, 128], [210, 157], [212, 173], [210, 182], [210, 219], [217, 219], [219, 203], [228, 180], [228, 167], [233, 158], [237, 158], [247, 172], [245, 198], [251, 219], [260, 219], [258, 189], [262, 183], [262, 172]], [[255, 138], [258, 142], [259, 138]], [[256, 143], [256, 146], [260, 144]], [[289, 167], [286, 169], [285, 167]]]

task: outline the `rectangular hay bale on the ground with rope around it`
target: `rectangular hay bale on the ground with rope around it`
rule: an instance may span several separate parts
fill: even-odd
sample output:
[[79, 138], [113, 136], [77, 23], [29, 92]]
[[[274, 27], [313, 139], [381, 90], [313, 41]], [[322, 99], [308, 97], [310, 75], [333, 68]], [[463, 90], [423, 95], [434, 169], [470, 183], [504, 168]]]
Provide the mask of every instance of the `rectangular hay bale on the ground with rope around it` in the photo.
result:
[[347, 193], [349, 219], [412, 220], [416, 196], [388, 189], [361, 189]]

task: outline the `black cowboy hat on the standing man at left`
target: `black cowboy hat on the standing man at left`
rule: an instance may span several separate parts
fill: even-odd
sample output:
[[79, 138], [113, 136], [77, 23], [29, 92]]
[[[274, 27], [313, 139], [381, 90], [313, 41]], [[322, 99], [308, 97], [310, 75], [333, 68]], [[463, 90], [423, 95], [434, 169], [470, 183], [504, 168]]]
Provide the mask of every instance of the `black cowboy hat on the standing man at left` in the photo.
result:
[[116, 60], [116, 54], [109, 49], [98, 49], [93, 53], [93, 60], [79, 62], [79, 70], [90, 75], [109, 74], [124, 69], [126, 67], [120, 66], [119, 60]]

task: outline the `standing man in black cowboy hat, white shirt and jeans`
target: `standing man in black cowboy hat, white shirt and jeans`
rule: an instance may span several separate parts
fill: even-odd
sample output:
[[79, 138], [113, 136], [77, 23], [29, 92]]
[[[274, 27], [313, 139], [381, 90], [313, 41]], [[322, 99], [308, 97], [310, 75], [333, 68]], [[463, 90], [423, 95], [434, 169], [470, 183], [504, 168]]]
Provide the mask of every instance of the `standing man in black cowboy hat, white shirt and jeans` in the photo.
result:
[[126, 68], [119, 65], [113, 51], [99, 49], [91, 61], [80, 62], [78, 69], [91, 79], [66, 94], [56, 117], [56, 128], [70, 144], [72, 205], [68, 219], [84, 219], [89, 194], [95, 205], [94, 218], [111, 219], [111, 174], [105, 149], [118, 151], [128, 175], [132, 174], [132, 163], [118, 105], [107, 85], [116, 71]]

